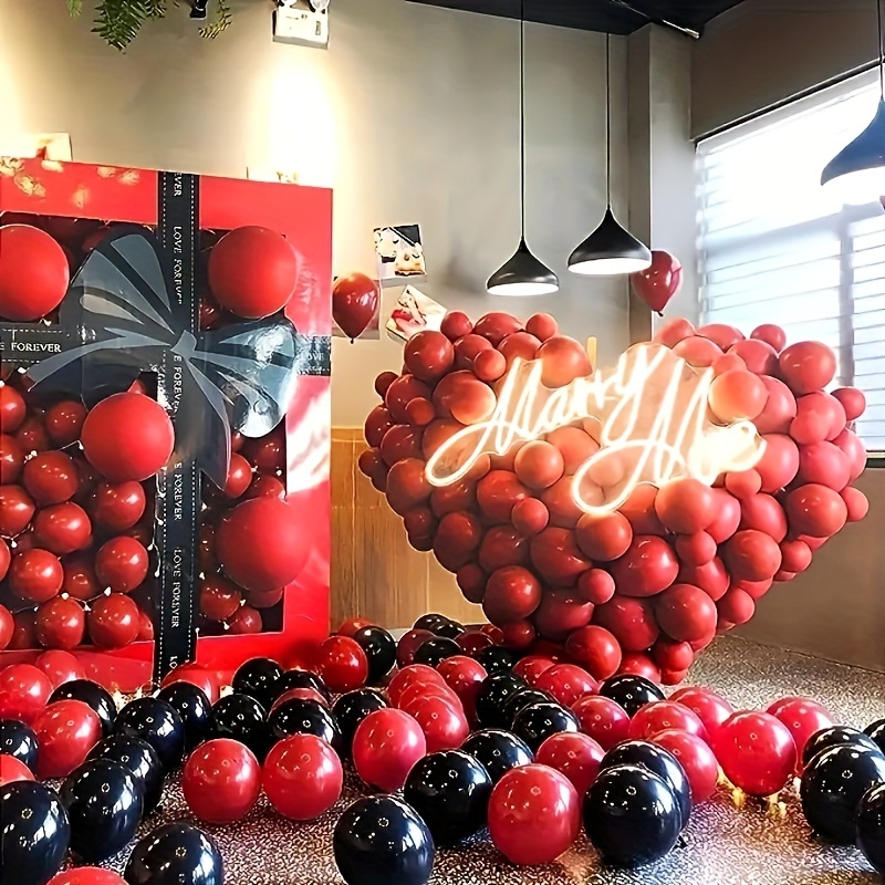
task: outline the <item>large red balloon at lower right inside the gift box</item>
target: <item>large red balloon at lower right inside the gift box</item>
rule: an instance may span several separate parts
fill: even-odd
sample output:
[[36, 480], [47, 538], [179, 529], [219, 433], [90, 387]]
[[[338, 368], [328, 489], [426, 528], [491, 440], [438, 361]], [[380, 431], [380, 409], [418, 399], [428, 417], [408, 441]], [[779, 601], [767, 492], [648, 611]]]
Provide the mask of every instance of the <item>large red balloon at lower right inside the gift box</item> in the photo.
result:
[[216, 531], [216, 553], [228, 577], [251, 591], [294, 581], [310, 554], [298, 510], [278, 498], [237, 504]]

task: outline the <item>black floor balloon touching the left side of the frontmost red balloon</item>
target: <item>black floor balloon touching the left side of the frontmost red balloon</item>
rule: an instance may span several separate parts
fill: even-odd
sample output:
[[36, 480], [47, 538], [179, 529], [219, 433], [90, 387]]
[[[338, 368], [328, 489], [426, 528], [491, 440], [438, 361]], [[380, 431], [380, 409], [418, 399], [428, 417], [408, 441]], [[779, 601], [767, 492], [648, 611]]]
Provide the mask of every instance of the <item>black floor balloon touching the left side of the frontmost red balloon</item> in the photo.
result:
[[403, 798], [420, 814], [434, 844], [455, 845], [486, 825], [491, 788], [489, 772], [472, 756], [445, 750], [418, 760]]

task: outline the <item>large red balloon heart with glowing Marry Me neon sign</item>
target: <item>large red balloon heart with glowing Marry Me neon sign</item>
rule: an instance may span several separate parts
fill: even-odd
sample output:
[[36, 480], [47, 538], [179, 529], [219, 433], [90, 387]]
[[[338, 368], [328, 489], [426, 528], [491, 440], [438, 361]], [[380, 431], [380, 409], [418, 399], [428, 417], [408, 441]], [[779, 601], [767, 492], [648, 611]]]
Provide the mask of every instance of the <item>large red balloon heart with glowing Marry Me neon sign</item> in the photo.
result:
[[376, 379], [360, 468], [507, 645], [676, 684], [868, 508], [863, 394], [784, 345], [673, 320], [594, 373], [548, 314], [451, 312]]

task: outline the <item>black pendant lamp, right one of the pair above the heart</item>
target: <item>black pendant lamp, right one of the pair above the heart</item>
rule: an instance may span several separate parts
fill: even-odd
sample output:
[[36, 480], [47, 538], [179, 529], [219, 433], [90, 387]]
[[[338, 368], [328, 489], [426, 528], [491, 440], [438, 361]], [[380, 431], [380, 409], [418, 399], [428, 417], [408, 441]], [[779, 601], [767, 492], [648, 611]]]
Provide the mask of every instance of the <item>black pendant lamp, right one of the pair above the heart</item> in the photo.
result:
[[608, 205], [600, 226], [569, 256], [569, 270], [587, 277], [614, 277], [645, 270], [648, 247], [622, 227], [612, 211], [612, 56], [605, 34], [605, 194]]

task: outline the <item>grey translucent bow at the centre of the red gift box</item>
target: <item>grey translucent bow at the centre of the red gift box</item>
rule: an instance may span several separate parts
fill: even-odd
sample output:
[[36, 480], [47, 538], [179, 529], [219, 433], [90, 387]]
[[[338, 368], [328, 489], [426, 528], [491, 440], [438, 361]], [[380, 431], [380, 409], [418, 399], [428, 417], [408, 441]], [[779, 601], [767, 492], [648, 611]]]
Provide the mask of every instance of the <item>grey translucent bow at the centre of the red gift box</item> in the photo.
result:
[[[163, 387], [171, 397], [163, 405], [175, 419], [174, 459], [192, 461], [223, 488], [231, 427], [249, 437], [272, 430], [285, 415], [296, 374], [312, 374], [320, 344], [282, 316], [195, 334], [181, 322], [181, 290], [180, 262], [150, 231], [115, 228], [62, 302], [60, 323], [76, 343], [28, 375], [91, 406], [126, 391], [144, 371], [167, 373]], [[190, 310], [198, 311], [196, 300]]]

